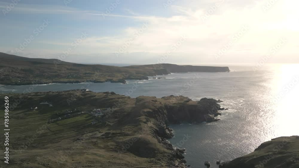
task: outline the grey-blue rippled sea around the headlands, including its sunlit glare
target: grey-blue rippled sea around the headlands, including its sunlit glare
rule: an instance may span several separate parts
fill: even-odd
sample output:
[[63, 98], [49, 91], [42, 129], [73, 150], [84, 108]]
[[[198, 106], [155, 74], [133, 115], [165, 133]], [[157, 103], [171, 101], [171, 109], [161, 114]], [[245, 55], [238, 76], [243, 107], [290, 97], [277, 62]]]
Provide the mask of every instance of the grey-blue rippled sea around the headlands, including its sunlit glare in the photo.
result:
[[[196, 125], [171, 125], [175, 137], [169, 141], [187, 149], [187, 164], [211, 167], [216, 160], [232, 160], [246, 155], [261, 143], [280, 136], [299, 135], [299, 65], [271, 64], [254, 71], [251, 66], [230, 66], [230, 73], [173, 73], [166, 79], [128, 80], [119, 83], [47, 84], [1, 86], [0, 93], [22, 93], [80, 89], [94, 92], [113, 91], [137, 97], [184, 95], [197, 101], [216, 98], [224, 102], [218, 122]], [[133, 86], [136, 90], [132, 90]], [[184, 136], [190, 137], [182, 141]]]

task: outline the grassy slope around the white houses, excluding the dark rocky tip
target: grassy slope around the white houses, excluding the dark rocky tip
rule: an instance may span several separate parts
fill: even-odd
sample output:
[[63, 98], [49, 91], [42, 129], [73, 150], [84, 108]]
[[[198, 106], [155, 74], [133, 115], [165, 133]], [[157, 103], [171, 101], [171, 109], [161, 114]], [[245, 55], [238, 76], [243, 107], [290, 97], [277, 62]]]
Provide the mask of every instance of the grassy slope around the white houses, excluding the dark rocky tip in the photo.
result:
[[[5, 95], [7, 96], [7, 95]], [[10, 104], [25, 100], [10, 111], [10, 167], [174, 167], [184, 165], [165, 140], [159, 138], [156, 115], [170, 100], [81, 91], [11, 94]], [[67, 100], [73, 98], [68, 105]], [[4, 95], [0, 95], [4, 100]], [[121, 99], [121, 101], [119, 101]], [[174, 98], [176, 99], [176, 98]], [[185, 99], [180, 98], [180, 101]], [[48, 101], [54, 107], [39, 104]], [[176, 101], [173, 101], [176, 102]], [[195, 102], [190, 102], [195, 103]], [[108, 117], [82, 114], [61, 121], [65, 110], [86, 111], [117, 104]], [[37, 106], [36, 111], [29, 108]], [[3, 106], [1, 107], [3, 109]], [[4, 110], [0, 110], [4, 114]], [[161, 111], [163, 112], [163, 111]], [[147, 117], [149, 116], [149, 117]], [[0, 116], [4, 120], [4, 116]], [[99, 121], [91, 124], [91, 121]], [[50, 121], [50, 122], [49, 122]], [[135, 138], [135, 139], [133, 139]], [[1, 141], [4, 139], [1, 135]], [[135, 140], [130, 143], [130, 140]], [[3, 156], [1, 142], [0, 155]], [[123, 150], [129, 145], [127, 151]], [[3, 162], [0, 166], [3, 166]], [[182, 166], [179, 166], [182, 167]]]

